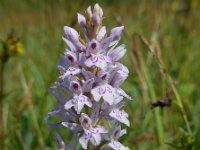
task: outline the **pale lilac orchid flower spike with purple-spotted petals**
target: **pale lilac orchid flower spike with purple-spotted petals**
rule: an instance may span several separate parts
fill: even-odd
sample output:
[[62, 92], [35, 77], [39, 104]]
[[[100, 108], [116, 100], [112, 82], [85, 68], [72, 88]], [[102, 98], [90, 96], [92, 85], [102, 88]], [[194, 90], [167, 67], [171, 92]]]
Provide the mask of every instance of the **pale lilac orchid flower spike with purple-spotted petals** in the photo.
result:
[[128, 150], [118, 141], [126, 134], [120, 124], [130, 126], [122, 107], [123, 99], [131, 97], [120, 88], [129, 73], [119, 62], [126, 52], [125, 45], [119, 45], [124, 27], [107, 32], [102, 26], [103, 11], [98, 4], [94, 8], [89, 6], [85, 16], [77, 13], [77, 18], [83, 34], [64, 27], [67, 48], [58, 64], [59, 79], [49, 89], [58, 107], [46, 117], [48, 120], [57, 115], [60, 121], [49, 123], [49, 128], [63, 126], [72, 132], [68, 144], [55, 134], [59, 149], [73, 150], [80, 143], [83, 149]]

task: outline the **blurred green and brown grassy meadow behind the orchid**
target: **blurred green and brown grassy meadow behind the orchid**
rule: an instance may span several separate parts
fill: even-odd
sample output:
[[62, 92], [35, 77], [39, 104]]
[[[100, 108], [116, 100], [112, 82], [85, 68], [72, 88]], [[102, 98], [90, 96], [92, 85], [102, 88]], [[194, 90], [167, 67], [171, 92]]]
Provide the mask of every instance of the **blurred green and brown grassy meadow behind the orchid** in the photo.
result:
[[[120, 141], [137, 150], [174, 149], [171, 145], [200, 149], [198, 0], [0, 0], [0, 39], [13, 29], [24, 44], [23, 54], [12, 57], [4, 70], [1, 126], [5, 135], [0, 149], [56, 149], [44, 116], [56, 106], [47, 90], [58, 78], [56, 65], [65, 49], [63, 26], [80, 31], [76, 12], [83, 14], [96, 2], [104, 10], [108, 30], [125, 26], [121, 43], [127, 45], [127, 53], [122, 63], [130, 75], [123, 88], [134, 100], [126, 101], [131, 127]], [[149, 41], [164, 62], [164, 71], [136, 32]], [[172, 105], [151, 109], [152, 101], [165, 97], [172, 84]], [[66, 128], [56, 131], [69, 142], [71, 133]]]

